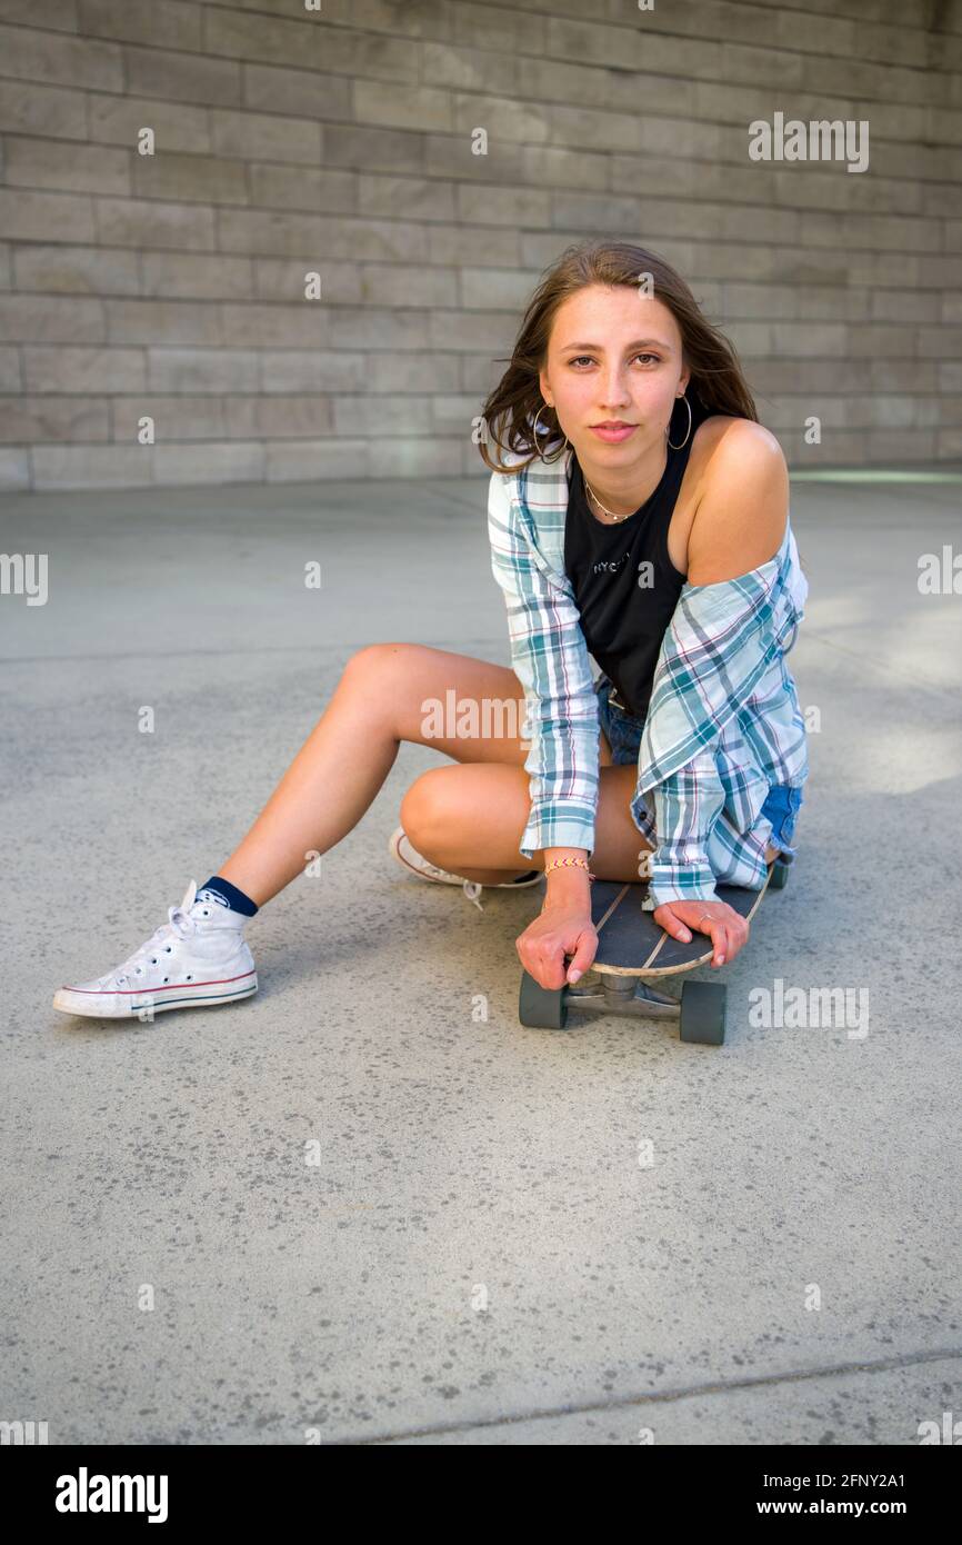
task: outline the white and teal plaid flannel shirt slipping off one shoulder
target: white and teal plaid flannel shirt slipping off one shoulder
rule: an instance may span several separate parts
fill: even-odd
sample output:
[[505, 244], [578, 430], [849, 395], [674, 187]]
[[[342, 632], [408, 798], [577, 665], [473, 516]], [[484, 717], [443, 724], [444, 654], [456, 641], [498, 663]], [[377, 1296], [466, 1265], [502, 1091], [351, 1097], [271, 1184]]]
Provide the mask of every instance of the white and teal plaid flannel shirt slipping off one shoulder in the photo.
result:
[[[537, 457], [493, 473], [488, 488], [491, 570], [525, 691], [520, 734], [531, 740], [525, 859], [553, 847], [594, 850], [598, 698], [564, 567], [570, 459], [568, 450], [553, 464]], [[771, 785], [800, 788], [808, 777], [804, 722], [784, 664], [806, 595], [791, 521], [778, 553], [758, 569], [681, 590], [655, 667], [630, 805], [655, 847], [655, 905], [715, 901], [716, 882], [764, 884], [772, 823], [761, 806]]]

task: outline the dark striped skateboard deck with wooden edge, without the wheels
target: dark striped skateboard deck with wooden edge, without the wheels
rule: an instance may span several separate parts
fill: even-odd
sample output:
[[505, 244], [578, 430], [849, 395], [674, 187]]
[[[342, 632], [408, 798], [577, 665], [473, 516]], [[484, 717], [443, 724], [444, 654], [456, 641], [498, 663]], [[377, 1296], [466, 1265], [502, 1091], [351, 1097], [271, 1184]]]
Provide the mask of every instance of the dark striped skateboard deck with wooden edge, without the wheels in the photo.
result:
[[[743, 885], [716, 885], [718, 901], [750, 921], [769, 888], [772, 870], [761, 890], [746, 890]], [[594, 881], [591, 887], [591, 922], [598, 930], [598, 953], [590, 970], [610, 972], [618, 976], [669, 976], [679, 970], [693, 970], [712, 959], [715, 949], [707, 933], [693, 929], [690, 944], [673, 939], [655, 922], [652, 912], [644, 912], [649, 887], [642, 881], [621, 884], [619, 881]]]

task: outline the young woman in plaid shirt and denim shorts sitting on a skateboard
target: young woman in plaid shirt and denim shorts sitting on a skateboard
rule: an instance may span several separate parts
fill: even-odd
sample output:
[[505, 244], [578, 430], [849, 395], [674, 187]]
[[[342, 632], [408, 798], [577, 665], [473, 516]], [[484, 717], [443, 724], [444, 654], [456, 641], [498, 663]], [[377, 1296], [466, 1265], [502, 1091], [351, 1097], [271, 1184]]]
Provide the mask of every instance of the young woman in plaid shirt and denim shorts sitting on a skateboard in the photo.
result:
[[[249, 918], [357, 825], [401, 740], [452, 765], [408, 789], [391, 851], [429, 882], [516, 888], [544, 871], [517, 939], [542, 986], [594, 958], [594, 876], [649, 878], [669, 933], [710, 936], [715, 966], [738, 953], [749, 925], [715, 882], [758, 888], [771, 859], [795, 854], [808, 760], [784, 655], [808, 587], [784, 457], [735, 352], [655, 253], [573, 247], [530, 301], [482, 426], [513, 669], [361, 649], [219, 871], [54, 1007], [116, 1018], [256, 992]], [[451, 691], [485, 734], [462, 720], [435, 734], [425, 705]], [[505, 703], [517, 732], [483, 711]]]

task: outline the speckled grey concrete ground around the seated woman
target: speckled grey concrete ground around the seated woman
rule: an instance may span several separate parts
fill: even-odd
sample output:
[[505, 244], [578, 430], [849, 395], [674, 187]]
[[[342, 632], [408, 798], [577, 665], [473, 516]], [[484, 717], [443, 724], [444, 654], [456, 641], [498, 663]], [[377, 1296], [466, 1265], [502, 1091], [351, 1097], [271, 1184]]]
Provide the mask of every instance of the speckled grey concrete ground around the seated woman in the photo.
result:
[[[510, 663], [485, 491], [0, 502], [3, 552], [49, 555], [45, 606], [0, 596], [0, 1418], [97, 1445], [914, 1445], [962, 1415], [962, 595], [919, 592], [920, 555], [962, 547], [959, 482], [794, 484], [812, 774], [789, 885], [699, 973], [727, 980], [723, 1048], [522, 1029], [540, 888], [479, 910], [397, 868], [401, 794], [443, 760], [411, 745], [250, 924], [253, 1000], [51, 1009], [225, 859], [355, 649]], [[777, 983], [801, 1024], [752, 1023]]]

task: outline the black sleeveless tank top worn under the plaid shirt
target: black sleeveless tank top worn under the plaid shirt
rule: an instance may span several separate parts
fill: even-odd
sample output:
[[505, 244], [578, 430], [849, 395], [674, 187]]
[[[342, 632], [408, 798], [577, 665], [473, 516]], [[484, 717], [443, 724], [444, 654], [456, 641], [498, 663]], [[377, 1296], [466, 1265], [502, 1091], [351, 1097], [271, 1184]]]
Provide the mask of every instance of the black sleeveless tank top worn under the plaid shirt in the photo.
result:
[[[695, 406], [692, 433], [684, 445], [669, 447], [661, 482], [616, 525], [594, 516], [578, 456], [571, 456], [568, 470], [565, 573], [574, 589], [588, 650], [611, 678], [627, 711], [638, 718], [649, 711], [661, 641], [686, 582], [669, 558], [667, 533], [695, 430], [704, 417], [707, 414]], [[686, 428], [683, 406], [672, 416], [670, 439], [676, 445]]]

